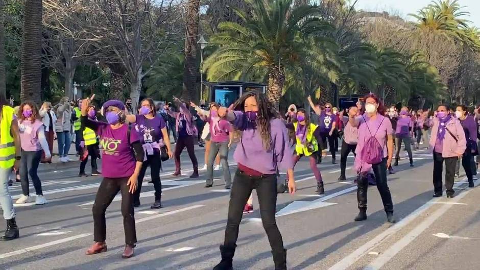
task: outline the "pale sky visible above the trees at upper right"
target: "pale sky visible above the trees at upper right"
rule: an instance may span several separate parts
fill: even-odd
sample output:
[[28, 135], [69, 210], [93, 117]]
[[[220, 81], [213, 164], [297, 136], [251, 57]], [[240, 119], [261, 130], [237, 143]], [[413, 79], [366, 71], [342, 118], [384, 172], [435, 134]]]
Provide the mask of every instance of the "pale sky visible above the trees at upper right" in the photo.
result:
[[[350, 0], [352, 3], [354, 0]], [[358, 0], [355, 8], [368, 11], [387, 11], [402, 18], [412, 20], [407, 16], [409, 13], [416, 13], [417, 10], [427, 6], [431, 0]], [[468, 20], [480, 28], [480, 0], [460, 0], [461, 6], [466, 6], [464, 11], [470, 12]]]

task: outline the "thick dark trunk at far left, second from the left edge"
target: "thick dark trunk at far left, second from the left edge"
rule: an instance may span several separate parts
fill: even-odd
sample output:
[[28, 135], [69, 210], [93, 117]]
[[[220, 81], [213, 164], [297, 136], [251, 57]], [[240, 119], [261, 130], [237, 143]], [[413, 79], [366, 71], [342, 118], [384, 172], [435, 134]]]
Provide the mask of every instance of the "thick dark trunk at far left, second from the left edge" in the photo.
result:
[[42, 0], [25, 2], [21, 46], [20, 100], [41, 103]]

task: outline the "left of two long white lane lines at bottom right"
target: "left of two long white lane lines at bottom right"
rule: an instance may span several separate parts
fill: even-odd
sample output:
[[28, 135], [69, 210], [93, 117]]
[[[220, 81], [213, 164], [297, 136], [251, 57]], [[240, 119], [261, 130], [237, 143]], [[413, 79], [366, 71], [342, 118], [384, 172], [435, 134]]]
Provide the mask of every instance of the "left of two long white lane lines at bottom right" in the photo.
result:
[[[458, 186], [456, 183], [455, 185]], [[476, 186], [476, 185], [475, 185]], [[350, 267], [352, 264], [354, 264], [358, 259], [366, 255], [368, 252], [370, 252], [373, 248], [375, 248], [379, 243], [381, 243], [383, 240], [386, 240], [396, 232], [398, 232], [400, 229], [408, 225], [410, 222], [412, 222], [415, 218], [417, 218], [419, 215], [421, 215], [423, 212], [428, 210], [431, 206], [435, 204], [435, 202], [440, 201], [441, 198], [434, 198], [426, 202], [424, 205], [420, 206], [417, 208], [417, 210], [413, 211], [406, 217], [402, 218], [398, 223], [395, 225], [389, 227], [387, 230], [381, 232], [377, 236], [375, 236], [373, 239], [370, 241], [366, 242], [363, 244], [361, 247], [356, 249], [354, 252], [350, 253], [348, 256], [344, 257], [342, 260], [339, 262], [335, 263], [332, 265], [328, 270], [345, 270], [348, 267]]]

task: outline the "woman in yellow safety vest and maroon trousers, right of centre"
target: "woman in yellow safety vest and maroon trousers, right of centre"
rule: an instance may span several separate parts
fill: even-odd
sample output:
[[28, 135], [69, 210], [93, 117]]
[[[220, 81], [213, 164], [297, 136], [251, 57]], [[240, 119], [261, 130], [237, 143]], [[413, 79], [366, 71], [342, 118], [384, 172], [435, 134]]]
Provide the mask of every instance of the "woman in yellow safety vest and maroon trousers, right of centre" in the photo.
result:
[[317, 193], [325, 193], [323, 188], [322, 175], [317, 168], [318, 142], [314, 133], [317, 133], [317, 125], [310, 123], [310, 117], [304, 109], [297, 110], [296, 121], [286, 124], [286, 128], [295, 131], [297, 143], [295, 145], [294, 168], [297, 162], [303, 157], [308, 157], [310, 169], [317, 179]]

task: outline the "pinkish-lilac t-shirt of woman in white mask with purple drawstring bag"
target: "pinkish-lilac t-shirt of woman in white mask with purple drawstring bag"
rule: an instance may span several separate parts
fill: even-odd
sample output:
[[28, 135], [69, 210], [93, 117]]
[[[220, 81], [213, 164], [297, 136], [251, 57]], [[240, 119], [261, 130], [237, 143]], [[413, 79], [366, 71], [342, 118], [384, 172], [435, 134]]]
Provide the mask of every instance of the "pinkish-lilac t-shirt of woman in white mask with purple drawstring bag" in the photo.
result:
[[[374, 135], [380, 145], [383, 146], [383, 157], [387, 157], [387, 135], [393, 134], [392, 123], [390, 122], [389, 118], [377, 113], [375, 120], [371, 120], [365, 113], [363, 117], [358, 116], [357, 119], [360, 123], [358, 126], [358, 143], [355, 150], [357, 157], [359, 157], [359, 154], [362, 153], [365, 142], [372, 135]], [[372, 135], [370, 135], [369, 129]]]

